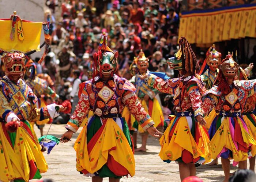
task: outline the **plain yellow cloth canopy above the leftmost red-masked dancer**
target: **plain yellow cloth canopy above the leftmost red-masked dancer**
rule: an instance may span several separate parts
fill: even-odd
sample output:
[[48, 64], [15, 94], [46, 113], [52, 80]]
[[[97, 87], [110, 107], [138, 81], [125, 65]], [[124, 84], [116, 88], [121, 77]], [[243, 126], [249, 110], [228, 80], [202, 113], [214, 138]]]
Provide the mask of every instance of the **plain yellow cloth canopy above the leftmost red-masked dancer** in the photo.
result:
[[11, 52], [40, 51], [40, 36], [42, 22], [22, 21], [24, 40], [18, 39], [17, 26], [15, 28], [15, 38], [11, 40], [11, 20], [0, 20], [0, 50]]

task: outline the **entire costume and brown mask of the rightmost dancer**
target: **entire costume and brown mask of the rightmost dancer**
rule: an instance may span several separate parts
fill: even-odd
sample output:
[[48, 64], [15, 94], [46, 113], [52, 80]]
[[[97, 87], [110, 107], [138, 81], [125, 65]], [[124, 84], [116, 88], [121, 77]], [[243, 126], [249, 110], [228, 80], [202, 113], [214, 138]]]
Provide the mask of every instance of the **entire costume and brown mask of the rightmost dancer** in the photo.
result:
[[[219, 72], [217, 84], [204, 96], [202, 108], [205, 113], [211, 109], [218, 113], [208, 131], [212, 158], [233, 158], [233, 165], [237, 165], [248, 158], [249, 151], [253, 156], [256, 153], [252, 148], [252, 145], [256, 144], [255, 140], [249, 134], [241, 116], [245, 110], [246, 100], [254, 95], [256, 80], [234, 80], [232, 85], [228, 85], [225, 77], [228, 77], [228, 74], [237, 74], [238, 66], [230, 54], [222, 60], [223, 62], [229, 62], [229, 65], [225, 63], [226, 67], [223, 66], [223, 71]], [[222, 72], [226, 72], [227, 76], [224, 77]]]

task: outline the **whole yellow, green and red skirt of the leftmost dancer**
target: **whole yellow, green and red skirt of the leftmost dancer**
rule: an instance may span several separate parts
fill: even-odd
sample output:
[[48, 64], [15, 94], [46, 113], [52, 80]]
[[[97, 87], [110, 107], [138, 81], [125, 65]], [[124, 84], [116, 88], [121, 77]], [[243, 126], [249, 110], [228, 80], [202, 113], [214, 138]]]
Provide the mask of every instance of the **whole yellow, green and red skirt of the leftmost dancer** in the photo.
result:
[[40, 179], [48, 169], [41, 148], [29, 122], [12, 133], [0, 122], [0, 181]]

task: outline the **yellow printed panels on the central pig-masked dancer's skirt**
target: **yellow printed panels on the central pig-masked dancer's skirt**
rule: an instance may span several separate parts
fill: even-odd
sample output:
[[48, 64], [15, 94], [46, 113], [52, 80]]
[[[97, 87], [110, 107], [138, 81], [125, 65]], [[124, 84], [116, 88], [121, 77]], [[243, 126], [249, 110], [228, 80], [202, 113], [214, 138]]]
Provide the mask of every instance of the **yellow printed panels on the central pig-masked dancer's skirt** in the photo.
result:
[[[108, 155], [112, 155], [114, 160], [124, 166], [131, 176], [135, 174], [135, 160], [129, 143], [112, 118], [106, 121], [103, 132], [90, 154], [87, 151], [87, 126], [83, 127], [76, 139], [74, 149], [76, 151], [76, 169], [83, 169], [89, 173], [95, 173], [108, 161]], [[114, 150], [111, 150], [115, 148]]]

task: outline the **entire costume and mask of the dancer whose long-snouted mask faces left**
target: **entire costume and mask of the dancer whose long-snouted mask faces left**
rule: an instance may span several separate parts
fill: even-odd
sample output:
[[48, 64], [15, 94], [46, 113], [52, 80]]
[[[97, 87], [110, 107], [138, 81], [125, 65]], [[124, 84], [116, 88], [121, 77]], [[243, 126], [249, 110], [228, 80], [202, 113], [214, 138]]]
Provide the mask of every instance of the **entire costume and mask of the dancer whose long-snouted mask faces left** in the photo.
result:
[[[185, 37], [180, 38], [180, 50], [167, 63], [171, 69], [182, 72], [195, 72], [196, 57]], [[190, 65], [190, 66], [189, 66]], [[182, 73], [183, 74], [183, 73]], [[207, 132], [196, 122], [202, 111], [202, 96], [206, 93], [204, 84], [197, 74], [184, 78], [163, 80], [149, 74], [146, 78], [149, 86], [157, 90], [174, 94], [176, 117], [173, 118], [160, 139], [159, 153], [164, 162], [204, 163], [211, 161], [211, 147]]]

